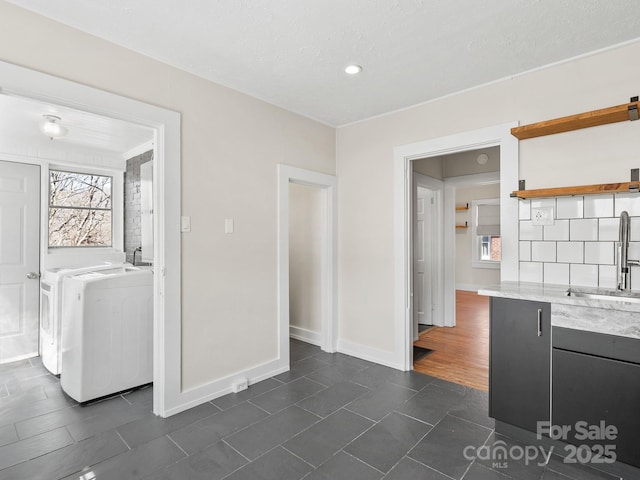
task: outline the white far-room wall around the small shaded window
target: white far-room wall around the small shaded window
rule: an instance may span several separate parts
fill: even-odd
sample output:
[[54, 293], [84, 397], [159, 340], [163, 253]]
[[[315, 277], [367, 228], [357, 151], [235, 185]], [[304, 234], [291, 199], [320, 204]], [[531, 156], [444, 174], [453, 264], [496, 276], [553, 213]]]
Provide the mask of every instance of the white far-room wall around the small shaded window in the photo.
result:
[[461, 290], [477, 290], [480, 287], [500, 283], [500, 270], [477, 268], [471, 264], [474, 235], [471, 230], [471, 202], [484, 198], [499, 198], [500, 184], [474, 185], [456, 187], [456, 205], [469, 204], [469, 210], [456, 212], [456, 223], [469, 228], [456, 229], [456, 288]]

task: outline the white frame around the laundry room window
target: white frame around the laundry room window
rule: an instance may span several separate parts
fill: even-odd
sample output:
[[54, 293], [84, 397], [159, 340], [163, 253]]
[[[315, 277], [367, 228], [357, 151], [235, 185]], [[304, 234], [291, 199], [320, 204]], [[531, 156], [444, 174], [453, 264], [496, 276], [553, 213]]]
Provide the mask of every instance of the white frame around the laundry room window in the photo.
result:
[[[63, 172], [63, 173], [75, 173], [78, 175], [95, 175], [111, 178], [111, 244], [110, 245], [74, 245], [74, 246], [56, 246], [49, 244], [49, 209], [51, 207], [51, 172]], [[46, 183], [44, 192], [46, 197], [43, 198], [43, 206], [46, 208], [47, 215], [43, 215], [43, 239], [46, 242], [45, 250], [50, 254], [55, 252], [118, 252], [122, 251], [124, 244], [124, 205], [121, 205], [124, 201], [124, 172], [118, 169], [112, 168], [91, 168], [91, 167], [79, 167], [70, 165], [54, 165], [49, 164], [46, 168], [46, 174], [43, 175], [43, 183]], [[89, 207], [72, 207], [87, 210], [96, 210]], [[106, 210], [106, 209], [97, 209]]]

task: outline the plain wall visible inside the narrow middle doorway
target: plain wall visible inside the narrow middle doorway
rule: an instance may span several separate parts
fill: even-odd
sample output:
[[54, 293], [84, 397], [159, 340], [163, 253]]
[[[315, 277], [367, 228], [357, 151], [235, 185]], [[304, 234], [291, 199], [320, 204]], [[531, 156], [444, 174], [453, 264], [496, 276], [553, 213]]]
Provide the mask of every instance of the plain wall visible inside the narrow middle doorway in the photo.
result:
[[321, 200], [321, 189], [289, 184], [289, 324], [301, 339], [316, 341], [322, 321]]

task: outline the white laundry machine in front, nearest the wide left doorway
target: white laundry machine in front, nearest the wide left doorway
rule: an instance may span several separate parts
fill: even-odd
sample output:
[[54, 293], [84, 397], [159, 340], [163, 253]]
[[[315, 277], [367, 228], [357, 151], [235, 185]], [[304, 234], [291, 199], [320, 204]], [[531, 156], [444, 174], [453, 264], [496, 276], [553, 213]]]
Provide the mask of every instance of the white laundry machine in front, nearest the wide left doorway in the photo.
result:
[[65, 277], [62, 389], [78, 402], [153, 381], [153, 271]]

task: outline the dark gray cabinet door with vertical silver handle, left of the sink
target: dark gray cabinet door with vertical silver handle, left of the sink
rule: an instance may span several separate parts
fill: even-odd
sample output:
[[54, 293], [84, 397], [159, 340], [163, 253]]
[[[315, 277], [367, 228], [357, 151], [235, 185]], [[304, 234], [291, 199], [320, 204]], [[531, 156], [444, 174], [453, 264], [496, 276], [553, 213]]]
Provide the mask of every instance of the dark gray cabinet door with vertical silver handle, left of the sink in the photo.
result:
[[551, 306], [491, 298], [489, 415], [536, 432], [550, 418]]

